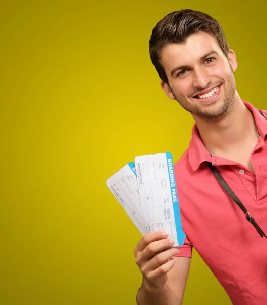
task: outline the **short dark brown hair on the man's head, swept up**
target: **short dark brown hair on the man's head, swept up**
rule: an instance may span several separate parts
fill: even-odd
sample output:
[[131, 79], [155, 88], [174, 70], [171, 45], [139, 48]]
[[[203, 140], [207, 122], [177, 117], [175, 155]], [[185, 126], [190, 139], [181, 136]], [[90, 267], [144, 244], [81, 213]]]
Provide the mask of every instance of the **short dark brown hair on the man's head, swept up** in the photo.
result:
[[163, 47], [168, 44], [183, 43], [191, 34], [200, 31], [213, 35], [224, 55], [228, 58], [230, 48], [226, 41], [223, 28], [210, 15], [199, 11], [183, 9], [168, 14], [153, 28], [149, 40], [150, 59], [159, 77], [165, 83], [168, 84], [169, 82], [160, 57], [160, 52]]

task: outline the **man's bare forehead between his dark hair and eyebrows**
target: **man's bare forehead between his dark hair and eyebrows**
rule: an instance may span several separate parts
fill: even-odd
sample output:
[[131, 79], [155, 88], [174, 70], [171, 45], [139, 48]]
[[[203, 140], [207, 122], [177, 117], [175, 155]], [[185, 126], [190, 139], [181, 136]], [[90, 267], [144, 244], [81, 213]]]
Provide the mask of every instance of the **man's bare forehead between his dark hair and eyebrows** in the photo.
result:
[[206, 32], [199, 32], [190, 35], [183, 43], [165, 46], [161, 50], [161, 59], [168, 74], [176, 66], [193, 65], [210, 51], [216, 51], [219, 55], [223, 55], [214, 36]]

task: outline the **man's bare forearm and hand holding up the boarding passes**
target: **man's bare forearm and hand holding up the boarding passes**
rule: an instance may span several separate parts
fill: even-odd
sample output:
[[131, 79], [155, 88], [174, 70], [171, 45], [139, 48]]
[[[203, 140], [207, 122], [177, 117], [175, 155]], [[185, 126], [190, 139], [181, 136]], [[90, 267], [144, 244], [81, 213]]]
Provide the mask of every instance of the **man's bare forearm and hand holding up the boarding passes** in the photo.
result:
[[143, 284], [136, 297], [138, 305], [182, 304], [190, 258], [173, 257], [179, 249], [170, 247], [173, 241], [163, 233], [146, 234], [134, 250], [143, 274]]

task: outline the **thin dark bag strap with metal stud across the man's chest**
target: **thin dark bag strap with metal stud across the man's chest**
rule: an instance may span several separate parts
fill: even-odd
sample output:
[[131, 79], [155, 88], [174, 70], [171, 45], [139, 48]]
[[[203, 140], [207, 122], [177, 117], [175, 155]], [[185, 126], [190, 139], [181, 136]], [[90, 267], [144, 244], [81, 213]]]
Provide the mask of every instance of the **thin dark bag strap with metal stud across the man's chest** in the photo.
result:
[[[261, 114], [267, 119], [267, 115], [265, 115], [262, 111], [260, 111]], [[265, 233], [262, 231], [262, 229], [259, 227], [259, 225], [256, 223], [255, 219], [249, 214], [249, 212], [247, 211], [247, 209], [245, 208], [245, 206], [242, 204], [242, 202], [239, 200], [238, 196], [236, 196], [233, 192], [233, 190], [229, 187], [229, 185], [227, 184], [227, 182], [224, 180], [224, 178], [222, 177], [222, 175], [219, 173], [218, 169], [212, 165], [211, 162], [207, 162], [206, 161], [207, 166], [209, 166], [209, 168], [211, 169], [211, 171], [213, 172], [213, 174], [215, 175], [215, 177], [218, 179], [218, 181], [220, 182], [220, 184], [222, 185], [222, 187], [225, 189], [225, 191], [228, 193], [228, 195], [232, 198], [232, 200], [239, 206], [239, 208], [243, 211], [243, 213], [245, 214], [246, 220], [249, 221], [257, 230], [257, 232], [259, 233], [259, 235], [261, 237], [265, 237], [267, 238], [267, 236], [265, 235]]]

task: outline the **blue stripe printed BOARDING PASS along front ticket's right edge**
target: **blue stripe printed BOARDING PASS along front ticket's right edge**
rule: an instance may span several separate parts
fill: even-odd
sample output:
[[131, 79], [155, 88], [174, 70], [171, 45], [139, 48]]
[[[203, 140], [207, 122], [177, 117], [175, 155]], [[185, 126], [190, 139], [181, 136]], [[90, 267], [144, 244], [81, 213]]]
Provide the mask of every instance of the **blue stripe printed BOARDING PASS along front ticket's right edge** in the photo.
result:
[[166, 153], [166, 158], [167, 158], [167, 163], [168, 163], [168, 172], [169, 172], [169, 178], [170, 178], [172, 204], [173, 204], [173, 210], [174, 210], [174, 218], [175, 218], [175, 226], [176, 226], [176, 231], [177, 231], [178, 243], [179, 243], [179, 246], [182, 246], [184, 244], [184, 239], [186, 238], [186, 235], [182, 229], [181, 215], [180, 215], [180, 209], [179, 209], [179, 200], [178, 200], [173, 159], [172, 159], [171, 153], [169, 153], [169, 152]]

